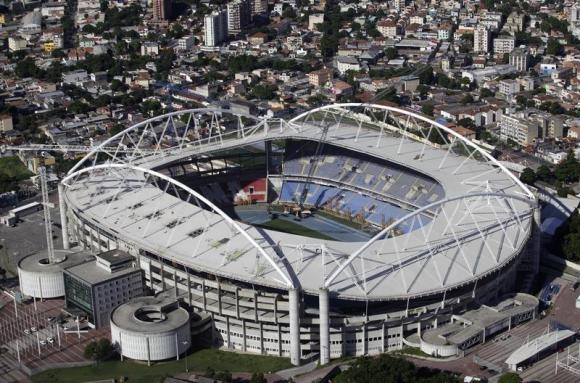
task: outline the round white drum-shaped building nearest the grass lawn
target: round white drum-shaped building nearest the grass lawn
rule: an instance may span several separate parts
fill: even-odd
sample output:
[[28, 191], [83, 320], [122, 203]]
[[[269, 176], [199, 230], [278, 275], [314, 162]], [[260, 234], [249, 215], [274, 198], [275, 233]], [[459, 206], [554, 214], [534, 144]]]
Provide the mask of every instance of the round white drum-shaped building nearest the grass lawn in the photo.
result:
[[191, 345], [189, 312], [166, 297], [135, 298], [111, 313], [111, 340], [126, 358], [176, 358]]

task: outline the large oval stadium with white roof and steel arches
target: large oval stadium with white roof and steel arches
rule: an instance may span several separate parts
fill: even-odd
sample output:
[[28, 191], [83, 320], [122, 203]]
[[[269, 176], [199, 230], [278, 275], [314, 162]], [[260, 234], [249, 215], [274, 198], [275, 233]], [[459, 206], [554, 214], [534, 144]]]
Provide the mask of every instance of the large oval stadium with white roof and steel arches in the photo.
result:
[[59, 193], [65, 248], [133, 254], [151, 289], [211, 316], [219, 346], [295, 365], [400, 349], [538, 268], [530, 190], [384, 105], [172, 112], [96, 147]]

